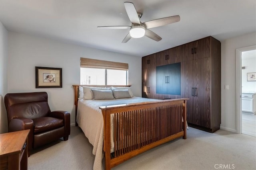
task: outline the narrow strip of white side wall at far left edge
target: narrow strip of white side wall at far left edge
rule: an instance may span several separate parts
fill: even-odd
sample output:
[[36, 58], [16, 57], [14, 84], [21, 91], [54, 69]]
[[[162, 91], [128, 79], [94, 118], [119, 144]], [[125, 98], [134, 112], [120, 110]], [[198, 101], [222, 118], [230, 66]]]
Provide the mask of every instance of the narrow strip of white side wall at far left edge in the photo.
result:
[[0, 22], [0, 133], [8, 131], [8, 121], [4, 106], [4, 96], [7, 93], [8, 66], [8, 31]]

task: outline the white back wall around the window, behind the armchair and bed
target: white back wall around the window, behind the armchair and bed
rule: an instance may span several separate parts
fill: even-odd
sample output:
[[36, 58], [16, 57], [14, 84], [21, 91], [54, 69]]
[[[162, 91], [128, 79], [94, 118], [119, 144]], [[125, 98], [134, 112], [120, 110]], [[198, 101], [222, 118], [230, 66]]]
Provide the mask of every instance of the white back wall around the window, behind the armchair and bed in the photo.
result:
[[[141, 96], [141, 58], [8, 32], [8, 93], [48, 93], [50, 109], [71, 113], [75, 123], [74, 90], [80, 84], [80, 57], [129, 64], [129, 84]], [[35, 66], [62, 68], [62, 88], [35, 88]]]

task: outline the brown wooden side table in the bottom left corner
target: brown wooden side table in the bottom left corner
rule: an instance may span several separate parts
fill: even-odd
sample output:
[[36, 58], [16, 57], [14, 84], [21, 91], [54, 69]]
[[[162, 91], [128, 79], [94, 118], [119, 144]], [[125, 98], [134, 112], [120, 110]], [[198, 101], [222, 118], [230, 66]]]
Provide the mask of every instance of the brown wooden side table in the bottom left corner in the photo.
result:
[[28, 130], [0, 134], [0, 169], [28, 169]]

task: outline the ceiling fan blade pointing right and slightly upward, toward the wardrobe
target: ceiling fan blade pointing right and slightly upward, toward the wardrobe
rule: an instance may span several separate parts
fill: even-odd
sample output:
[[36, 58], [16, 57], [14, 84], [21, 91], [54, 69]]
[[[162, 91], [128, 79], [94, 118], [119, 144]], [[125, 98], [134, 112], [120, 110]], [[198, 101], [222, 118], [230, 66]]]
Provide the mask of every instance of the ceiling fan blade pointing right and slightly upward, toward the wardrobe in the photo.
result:
[[144, 22], [143, 25], [146, 26], [146, 28], [154, 28], [154, 27], [160, 27], [160, 26], [178, 22], [178, 21], [180, 21], [180, 16], [171, 16], [171, 17], [160, 18], [152, 21], [147, 21], [147, 22]]

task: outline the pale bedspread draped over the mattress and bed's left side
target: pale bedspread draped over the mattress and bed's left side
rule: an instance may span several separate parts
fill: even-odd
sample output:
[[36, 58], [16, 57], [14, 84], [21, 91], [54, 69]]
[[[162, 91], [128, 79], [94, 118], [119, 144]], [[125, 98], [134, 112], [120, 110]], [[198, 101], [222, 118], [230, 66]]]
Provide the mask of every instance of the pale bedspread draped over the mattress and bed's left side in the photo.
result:
[[103, 117], [100, 106], [111, 106], [118, 104], [132, 104], [140, 102], [157, 101], [148, 98], [126, 98], [116, 100], [84, 100], [78, 101], [76, 121], [85, 136], [93, 146], [92, 154], [95, 155], [94, 170], [101, 170], [103, 158]]

